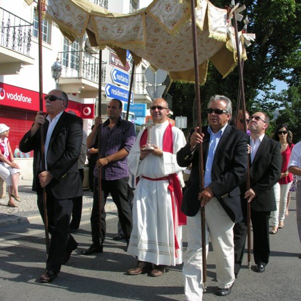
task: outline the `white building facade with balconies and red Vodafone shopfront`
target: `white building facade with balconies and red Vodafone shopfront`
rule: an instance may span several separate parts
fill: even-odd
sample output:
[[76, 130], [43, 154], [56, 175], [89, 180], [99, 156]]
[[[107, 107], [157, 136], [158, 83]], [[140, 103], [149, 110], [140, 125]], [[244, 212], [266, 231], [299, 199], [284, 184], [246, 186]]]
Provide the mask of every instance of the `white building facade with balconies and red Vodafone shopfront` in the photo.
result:
[[[90, 2], [111, 12], [127, 14], [147, 6], [151, 1], [90, 0]], [[68, 110], [73, 110], [83, 118], [84, 129], [89, 133], [98, 112], [99, 77], [101, 76], [103, 104], [101, 112], [102, 117], [106, 118], [106, 103], [111, 99], [106, 94], [110, 92], [110, 85], [128, 90], [126, 84], [129, 86], [131, 75], [130, 56], [126, 66], [123, 67], [113, 50], [106, 48], [102, 51], [100, 63], [99, 51], [90, 46], [86, 34], [70, 44], [56, 24], [47, 20], [43, 20], [42, 39], [43, 94], [47, 94], [57, 86], [52, 78], [51, 67], [58, 59], [62, 65], [58, 87], [68, 94]], [[134, 70], [132, 91], [135, 104], [151, 103], [145, 89], [147, 83], [144, 72], [147, 66], [148, 63], [142, 61]], [[32, 154], [20, 154], [19, 141], [30, 129], [39, 110], [37, 1], [28, 6], [24, 0], [0, 0], [0, 123], [5, 123], [11, 128], [10, 141], [16, 158], [26, 160], [27, 157], [32, 157]], [[144, 119], [139, 121], [138, 124]]]

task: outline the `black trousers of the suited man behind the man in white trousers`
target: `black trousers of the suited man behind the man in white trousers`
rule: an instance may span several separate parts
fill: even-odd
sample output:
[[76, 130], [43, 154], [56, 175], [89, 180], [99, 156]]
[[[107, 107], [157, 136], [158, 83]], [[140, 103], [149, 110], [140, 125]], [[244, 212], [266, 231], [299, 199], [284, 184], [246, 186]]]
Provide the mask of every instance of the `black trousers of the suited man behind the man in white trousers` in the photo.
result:
[[[269, 247], [269, 220], [270, 211], [254, 211], [251, 209], [251, 222], [253, 228], [253, 254], [256, 264], [267, 265], [270, 255]], [[246, 237], [247, 218], [236, 223], [234, 232], [234, 272], [238, 273], [243, 260]]]

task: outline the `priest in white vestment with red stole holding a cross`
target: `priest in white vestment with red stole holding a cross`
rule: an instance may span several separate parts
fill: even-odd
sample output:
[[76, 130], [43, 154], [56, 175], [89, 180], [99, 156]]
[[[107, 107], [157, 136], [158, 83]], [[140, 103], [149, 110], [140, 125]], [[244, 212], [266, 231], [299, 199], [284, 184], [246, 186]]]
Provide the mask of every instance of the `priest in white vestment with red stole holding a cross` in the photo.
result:
[[149, 129], [153, 150], [143, 149], [147, 129], [141, 131], [128, 155], [129, 171], [138, 180], [133, 201], [133, 229], [127, 252], [137, 258], [138, 275], [149, 271], [163, 275], [166, 266], [182, 263], [182, 227], [186, 216], [181, 211], [179, 178], [185, 168], [177, 164], [176, 154], [185, 144], [182, 130], [171, 126], [168, 103], [157, 98], [150, 106], [154, 124]]

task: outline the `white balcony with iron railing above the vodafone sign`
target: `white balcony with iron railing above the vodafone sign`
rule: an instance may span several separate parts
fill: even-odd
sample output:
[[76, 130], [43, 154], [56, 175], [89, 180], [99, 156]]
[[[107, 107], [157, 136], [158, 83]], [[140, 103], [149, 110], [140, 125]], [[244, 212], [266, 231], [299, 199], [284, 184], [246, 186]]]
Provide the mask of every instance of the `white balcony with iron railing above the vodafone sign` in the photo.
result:
[[1, 74], [15, 74], [22, 65], [34, 63], [30, 57], [32, 31], [33, 24], [0, 8]]

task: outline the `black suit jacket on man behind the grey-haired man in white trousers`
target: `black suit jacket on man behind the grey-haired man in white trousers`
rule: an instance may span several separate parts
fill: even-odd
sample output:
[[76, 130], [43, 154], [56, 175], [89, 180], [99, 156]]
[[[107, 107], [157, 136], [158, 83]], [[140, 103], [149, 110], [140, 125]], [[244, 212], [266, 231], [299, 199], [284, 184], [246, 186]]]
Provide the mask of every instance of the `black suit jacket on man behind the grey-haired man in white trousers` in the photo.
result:
[[[273, 186], [281, 175], [281, 145], [264, 135], [250, 164], [250, 187], [255, 192], [255, 198], [251, 201], [251, 208], [255, 211], [276, 210], [275, 195]], [[244, 193], [245, 183], [241, 186], [242, 203], [245, 207], [246, 200]]]

